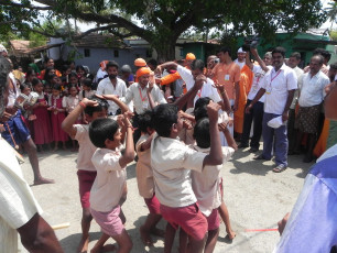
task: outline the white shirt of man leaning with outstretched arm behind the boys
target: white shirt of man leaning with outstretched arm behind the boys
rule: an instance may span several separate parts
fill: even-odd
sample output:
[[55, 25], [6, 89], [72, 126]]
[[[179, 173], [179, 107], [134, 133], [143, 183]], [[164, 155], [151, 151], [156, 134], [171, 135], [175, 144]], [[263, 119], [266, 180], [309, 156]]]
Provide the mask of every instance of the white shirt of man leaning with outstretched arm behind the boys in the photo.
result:
[[[189, 69], [178, 66], [177, 72], [186, 84], [186, 89], [189, 90], [195, 84], [195, 79]], [[210, 98], [214, 102], [219, 102], [222, 99], [219, 96], [217, 88], [214, 87], [214, 81], [209, 78], [203, 84], [203, 87], [198, 90], [197, 95], [194, 98], [194, 105], [199, 98]]]

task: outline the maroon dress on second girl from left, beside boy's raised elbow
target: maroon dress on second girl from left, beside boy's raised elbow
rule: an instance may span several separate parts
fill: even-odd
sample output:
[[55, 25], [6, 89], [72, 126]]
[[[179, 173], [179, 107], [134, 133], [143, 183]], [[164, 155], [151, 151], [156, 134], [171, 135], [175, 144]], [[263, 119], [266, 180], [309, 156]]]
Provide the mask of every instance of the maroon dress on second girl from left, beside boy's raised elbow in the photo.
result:
[[[51, 97], [50, 106], [63, 109], [62, 106], [62, 98], [57, 96], [56, 98], [54, 96]], [[68, 134], [64, 132], [61, 128], [62, 122], [65, 119], [65, 112], [54, 112], [51, 111], [51, 118], [52, 118], [52, 132], [53, 132], [53, 141], [54, 142], [66, 142], [68, 140]]]

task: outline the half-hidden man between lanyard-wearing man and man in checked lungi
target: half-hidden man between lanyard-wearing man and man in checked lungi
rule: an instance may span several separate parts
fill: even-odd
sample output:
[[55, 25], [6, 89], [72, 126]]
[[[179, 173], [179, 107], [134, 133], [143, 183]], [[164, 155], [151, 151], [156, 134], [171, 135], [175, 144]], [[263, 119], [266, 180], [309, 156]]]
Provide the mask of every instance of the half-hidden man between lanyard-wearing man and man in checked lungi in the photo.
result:
[[[297, 84], [303, 75], [303, 70], [297, 66], [301, 63], [301, 54], [298, 52], [294, 52], [291, 54], [287, 61], [287, 66], [294, 69], [297, 76]], [[298, 85], [297, 85], [298, 86]], [[300, 90], [297, 89], [294, 94], [294, 98], [292, 105], [289, 110], [289, 120], [287, 120], [287, 140], [289, 140], [289, 155], [294, 154], [295, 140], [296, 140], [296, 131], [295, 131], [295, 108], [298, 100]]]

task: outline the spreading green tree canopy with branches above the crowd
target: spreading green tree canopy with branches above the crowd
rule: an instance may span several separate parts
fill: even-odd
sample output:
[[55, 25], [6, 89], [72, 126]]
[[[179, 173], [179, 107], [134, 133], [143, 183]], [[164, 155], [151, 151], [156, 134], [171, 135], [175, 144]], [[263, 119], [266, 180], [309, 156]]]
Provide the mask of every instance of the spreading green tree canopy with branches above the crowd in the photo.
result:
[[[260, 33], [271, 37], [278, 29], [293, 33], [317, 28], [326, 20], [319, 0], [0, 0], [0, 32], [11, 29], [28, 30], [37, 25], [39, 11], [59, 20], [95, 22], [97, 29], [120, 37], [137, 35], [148, 41], [160, 59], [174, 57], [174, 45], [188, 29], [224, 29], [231, 25], [238, 34]], [[139, 23], [126, 19], [134, 16]], [[22, 21], [25, 22], [22, 22]], [[123, 30], [121, 30], [121, 28]], [[87, 33], [81, 34], [85, 35]], [[57, 31], [45, 31], [53, 36], [67, 36]], [[72, 35], [73, 40], [80, 35]]]

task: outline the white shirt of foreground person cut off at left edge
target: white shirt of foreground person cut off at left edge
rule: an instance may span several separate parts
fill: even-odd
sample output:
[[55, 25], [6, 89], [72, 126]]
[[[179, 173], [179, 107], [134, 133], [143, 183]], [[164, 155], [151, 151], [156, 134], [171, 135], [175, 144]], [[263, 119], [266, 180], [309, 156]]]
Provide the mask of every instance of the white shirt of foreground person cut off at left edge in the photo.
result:
[[17, 229], [42, 209], [23, 178], [14, 150], [0, 135], [0, 252], [18, 252]]

